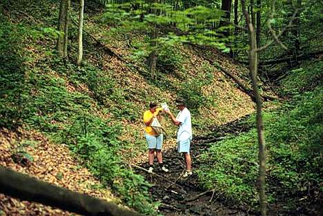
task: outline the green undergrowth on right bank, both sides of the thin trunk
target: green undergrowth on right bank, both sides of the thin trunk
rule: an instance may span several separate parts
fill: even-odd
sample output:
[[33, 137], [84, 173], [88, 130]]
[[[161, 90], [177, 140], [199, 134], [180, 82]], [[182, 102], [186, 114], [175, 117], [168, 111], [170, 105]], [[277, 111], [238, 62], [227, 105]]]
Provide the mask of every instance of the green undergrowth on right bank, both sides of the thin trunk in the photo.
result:
[[[322, 193], [323, 88], [295, 95], [284, 106], [264, 112], [269, 204], [296, 209], [318, 202]], [[254, 123], [255, 116], [248, 120]], [[202, 186], [253, 208], [258, 206], [258, 144], [253, 129], [213, 144], [200, 159]]]

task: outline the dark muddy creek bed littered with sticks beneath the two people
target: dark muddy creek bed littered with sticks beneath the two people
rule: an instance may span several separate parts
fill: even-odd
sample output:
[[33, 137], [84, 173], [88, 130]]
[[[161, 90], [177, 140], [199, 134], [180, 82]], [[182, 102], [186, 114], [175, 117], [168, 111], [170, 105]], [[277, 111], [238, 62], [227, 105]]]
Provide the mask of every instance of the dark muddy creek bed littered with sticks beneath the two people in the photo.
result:
[[[214, 143], [226, 135], [238, 134], [249, 129], [241, 121], [233, 121], [224, 126], [211, 128], [212, 133], [207, 137], [195, 137], [191, 150], [193, 168], [199, 167], [197, 155], [202, 150], [206, 150], [210, 142]], [[148, 174], [145, 170], [138, 169], [138, 173], [144, 175], [147, 181], [153, 184], [150, 193], [156, 201], [161, 202], [159, 210], [164, 215], [255, 215], [242, 209], [241, 206], [235, 206], [222, 200], [212, 190], [205, 191], [200, 188], [196, 173], [187, 179], [182, 178], [185, 168], [184, 158], [175, 149], [164, 153], [164, 164], [168, 166], [169, 173], [162, 173], [157, 168], [157, 163], [155, 163], [155, 174]], [[148, 168], [147, 164], [141, 164], [141, 167]]]

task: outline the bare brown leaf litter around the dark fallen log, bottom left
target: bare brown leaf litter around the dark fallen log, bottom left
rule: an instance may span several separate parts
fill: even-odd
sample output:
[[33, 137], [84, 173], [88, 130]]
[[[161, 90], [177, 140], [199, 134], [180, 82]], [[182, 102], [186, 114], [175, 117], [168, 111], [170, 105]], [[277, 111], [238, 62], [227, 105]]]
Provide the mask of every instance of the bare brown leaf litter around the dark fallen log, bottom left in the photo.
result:
[[[70, 155], [67, 146], [48, 141], [41, 133], [19, 130], [0, 131], [0, 165], [56, 186], [86, 193], [106, 201], [117, 199]], [[71, 215], [71, 213], [33, 202], [20, 202], [0, 194], [5, 215]]]

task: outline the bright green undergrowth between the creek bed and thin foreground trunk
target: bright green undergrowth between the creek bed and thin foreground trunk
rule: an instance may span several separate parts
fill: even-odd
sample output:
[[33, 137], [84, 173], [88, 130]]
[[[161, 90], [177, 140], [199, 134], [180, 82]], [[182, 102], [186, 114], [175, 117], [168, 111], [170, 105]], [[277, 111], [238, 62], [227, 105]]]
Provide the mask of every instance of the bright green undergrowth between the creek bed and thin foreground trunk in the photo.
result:
[[256, 132], [252, 131], [235, 139], [220, 141], [202, 155], [202, 161], [206, 161], [206, 164], [200, 168], [198, 174], [203, 186], [207, 189], [215, 188], [226, 199], [255, 205], [256, 136]]

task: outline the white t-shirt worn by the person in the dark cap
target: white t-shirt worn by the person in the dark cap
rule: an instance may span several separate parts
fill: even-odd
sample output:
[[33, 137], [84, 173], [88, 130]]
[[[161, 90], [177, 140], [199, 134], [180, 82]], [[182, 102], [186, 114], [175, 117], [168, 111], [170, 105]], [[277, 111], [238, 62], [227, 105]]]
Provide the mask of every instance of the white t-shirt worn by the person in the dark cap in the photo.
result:
[[192, 139], [192, 122], [190, 120], [190, 110], [184, 108], [178, 112], [176, 120], [182, 122], [177, 130], [177, 141]]

